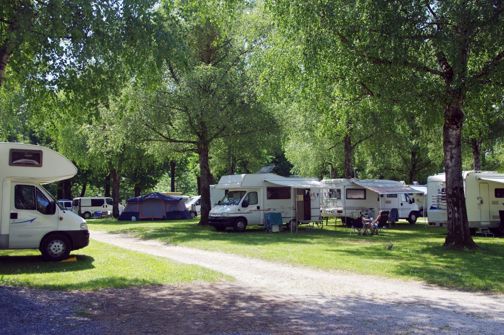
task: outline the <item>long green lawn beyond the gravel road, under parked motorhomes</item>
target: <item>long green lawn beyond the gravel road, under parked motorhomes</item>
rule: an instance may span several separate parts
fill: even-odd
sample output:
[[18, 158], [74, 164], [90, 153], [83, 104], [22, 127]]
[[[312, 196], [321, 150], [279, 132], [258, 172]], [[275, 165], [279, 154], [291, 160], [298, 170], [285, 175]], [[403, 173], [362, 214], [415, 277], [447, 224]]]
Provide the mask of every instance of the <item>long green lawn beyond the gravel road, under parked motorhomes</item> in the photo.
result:
[[[399, 223], [382, 236], [350, 235], [338, 226], [300, 228], [298, 233], [264, 233], [259, 226], [244, 233], [217, 232], [198, 219], [125, 222], [89, 220], [91, 230], [129, 233], [169, 244], [235, 253], [254, 258], [360, 274], [423, 280], [473, 291], [504, 292], [504, 239], [474, 237], [477, 250], [442, 247], [445, 228]], [[331, 223], [330, 223], [331, 224]], [[334, 220], [333, 220], [334, 224]], [[303, 227], [303, 226], [301, 226]], [[229, 228], [228, 228], [229, 229]], [[92, 236], [92, 235], [91, 235]], [[393, 244], [392, 250], [385, 246]]]

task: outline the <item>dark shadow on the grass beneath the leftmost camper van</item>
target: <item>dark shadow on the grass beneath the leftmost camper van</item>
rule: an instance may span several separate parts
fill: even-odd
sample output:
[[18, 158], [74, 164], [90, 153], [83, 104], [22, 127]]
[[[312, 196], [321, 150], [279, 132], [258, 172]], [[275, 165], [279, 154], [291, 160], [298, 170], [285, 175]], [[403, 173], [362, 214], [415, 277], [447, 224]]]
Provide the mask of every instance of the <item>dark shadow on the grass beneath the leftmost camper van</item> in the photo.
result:
[[77, 255], [77, 260], [76, 262], [48, 262], [42, 256], [0, 256], [0, 276], [81, 271], [94, 268], [93, 257]]

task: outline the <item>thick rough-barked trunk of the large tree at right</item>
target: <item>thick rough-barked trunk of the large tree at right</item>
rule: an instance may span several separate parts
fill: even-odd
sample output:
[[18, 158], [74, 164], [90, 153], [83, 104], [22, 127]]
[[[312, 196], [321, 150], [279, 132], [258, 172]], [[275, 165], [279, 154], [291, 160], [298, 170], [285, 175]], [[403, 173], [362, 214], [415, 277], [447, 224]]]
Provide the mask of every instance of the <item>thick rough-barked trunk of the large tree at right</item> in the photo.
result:
[[[447, 93], [448, 95], [449, 93]], [[452, 95], [445, 103], [443, 152], [445, 155], [448, 233], [444, 246], [477, 248], [469, 231], [464, 183], [462, 180], [462, 123], [463, 96]]]

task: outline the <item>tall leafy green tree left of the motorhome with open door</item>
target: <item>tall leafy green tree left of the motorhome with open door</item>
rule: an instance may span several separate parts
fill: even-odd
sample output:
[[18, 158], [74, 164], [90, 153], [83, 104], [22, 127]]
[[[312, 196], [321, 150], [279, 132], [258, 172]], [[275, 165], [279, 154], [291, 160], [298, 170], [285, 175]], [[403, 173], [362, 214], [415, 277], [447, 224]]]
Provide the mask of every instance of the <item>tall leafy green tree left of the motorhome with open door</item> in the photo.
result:
[[[211, 146], [219, 139], [274, 129], [246, 68], [246, 56], [260, 45], [266, 28], [258, 15], [236, 2], [202, 2], [182, 9], [166, 13], [165, 26], [174, 32], [168, 35], [176, 35], [179, 45], [166, 54], [166, 80], [155, 92], [144, 124], [152, 131], [151, 140], [180, 144], [198, 154], [200, 224], [206, 225]], [[183, 20], [174, 28], [175, 16]]]

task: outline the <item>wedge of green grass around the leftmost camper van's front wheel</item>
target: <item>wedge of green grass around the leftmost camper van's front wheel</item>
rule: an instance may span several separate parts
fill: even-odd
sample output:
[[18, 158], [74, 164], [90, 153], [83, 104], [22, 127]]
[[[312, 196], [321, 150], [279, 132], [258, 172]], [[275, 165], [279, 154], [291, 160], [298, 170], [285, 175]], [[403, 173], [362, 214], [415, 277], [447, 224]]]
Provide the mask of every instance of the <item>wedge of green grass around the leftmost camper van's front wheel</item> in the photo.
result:
[[38, 250], [0, 250], [0, 285], [50, 290], [94, 290], [131, 286], [231, 280], [201, 266], [118, 248], [91, 240], [72, 251], [75, 262], [46, 262]]

